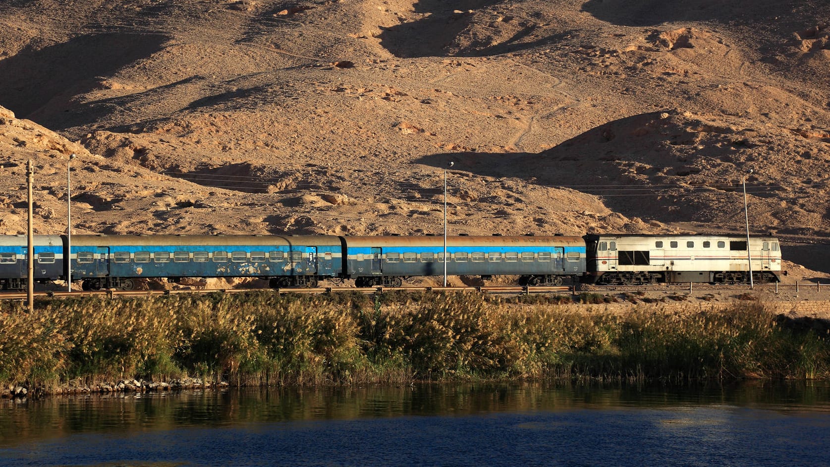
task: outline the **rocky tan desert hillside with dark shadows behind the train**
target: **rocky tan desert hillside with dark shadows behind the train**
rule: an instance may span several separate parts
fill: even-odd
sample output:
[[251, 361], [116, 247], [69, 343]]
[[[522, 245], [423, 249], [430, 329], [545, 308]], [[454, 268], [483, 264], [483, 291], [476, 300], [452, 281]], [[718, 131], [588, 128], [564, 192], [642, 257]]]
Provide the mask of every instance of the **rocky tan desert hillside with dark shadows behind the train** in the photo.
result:
[[743, 232], [830, 272], [827, 0], [6, 0], [0, 234]]

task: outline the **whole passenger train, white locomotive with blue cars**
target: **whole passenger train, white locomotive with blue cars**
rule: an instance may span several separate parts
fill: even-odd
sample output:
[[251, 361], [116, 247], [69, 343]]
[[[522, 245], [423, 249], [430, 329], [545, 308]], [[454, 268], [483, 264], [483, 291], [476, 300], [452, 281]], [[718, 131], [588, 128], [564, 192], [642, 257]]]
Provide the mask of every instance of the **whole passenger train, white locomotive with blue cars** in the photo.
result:
[[[442, 276], [440, 236], [66, 235], [34, 237], [37, 283], [82, 281], [84, 290], [130, 290], [141, 278], [265, 278], [272, 288], [353, 279], [400, 287]], [[66, 262], [66, 258], [69, 261]], [[518, 276], [523, 286], [572, 283], [777, 282], [779, 240], [726, 235], [447, 237], [447, 275]], [[71, 271], [69, 269], [71, 268]], [[0, 235], [0, 288], [27, 287], [27, 237]]]

